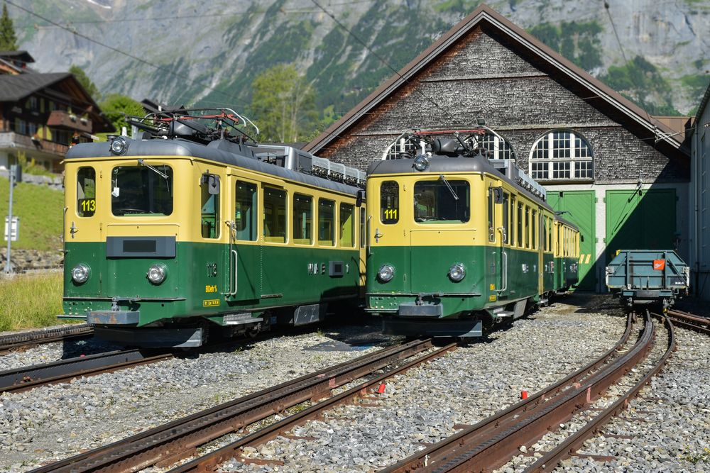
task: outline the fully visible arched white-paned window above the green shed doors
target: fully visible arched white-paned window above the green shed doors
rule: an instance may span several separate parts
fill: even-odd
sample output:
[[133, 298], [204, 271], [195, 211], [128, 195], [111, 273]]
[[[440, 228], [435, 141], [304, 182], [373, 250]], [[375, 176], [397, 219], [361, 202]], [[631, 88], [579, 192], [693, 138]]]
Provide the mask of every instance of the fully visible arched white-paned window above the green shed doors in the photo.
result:
[[530, 176], [538, 181], [594, 179], [589, 143], [570, 130], [545, 133], [530, 151]]

